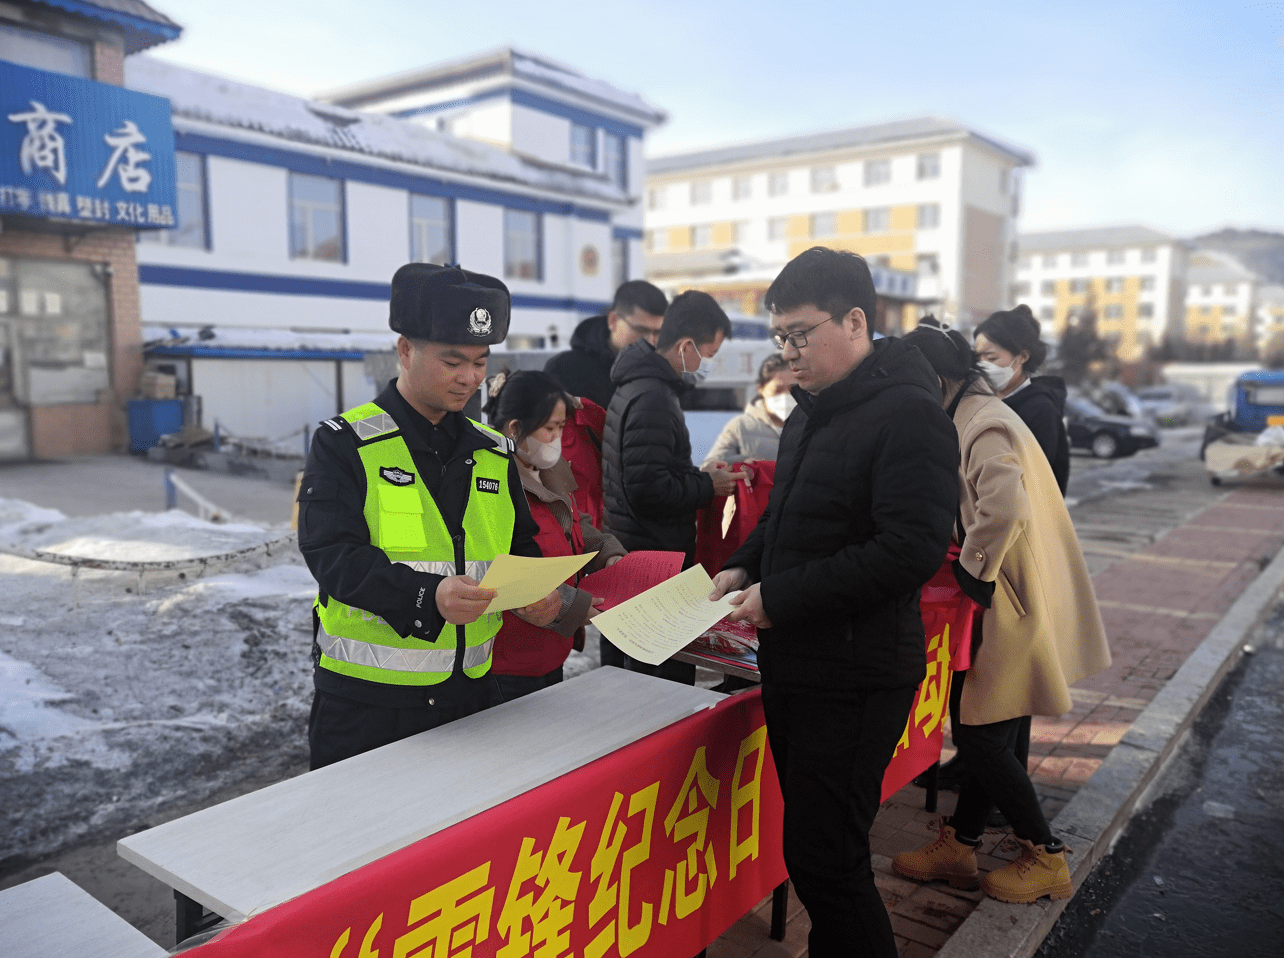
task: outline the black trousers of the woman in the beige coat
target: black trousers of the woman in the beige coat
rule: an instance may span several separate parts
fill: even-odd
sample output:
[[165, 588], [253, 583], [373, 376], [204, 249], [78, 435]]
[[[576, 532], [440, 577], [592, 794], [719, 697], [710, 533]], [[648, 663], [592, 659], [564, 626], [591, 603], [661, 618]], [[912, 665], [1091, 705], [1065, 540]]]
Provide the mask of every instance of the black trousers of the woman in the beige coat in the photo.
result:
[[[950, 817], [954, 831], [964, 839], [980, 839], [994, 806], [998, 805], [1013, 833], [1035, 845], [1052, 841], [1052, 830], [1039, 805], [1039, 795], [1026, 771], [1026, 763], [1016, 755], [1021, 738], [1022, 718], [993, 722], [985, 726], [964, 726], [959, 720], [955, 701], [962, 700], [966, 672], [955, 672], [959, 699], [951, 696], [950, 735], [963, 760], [959, 779], [959, 800]], [[1027, 727], [1028, 728], [1028, 727]]]

